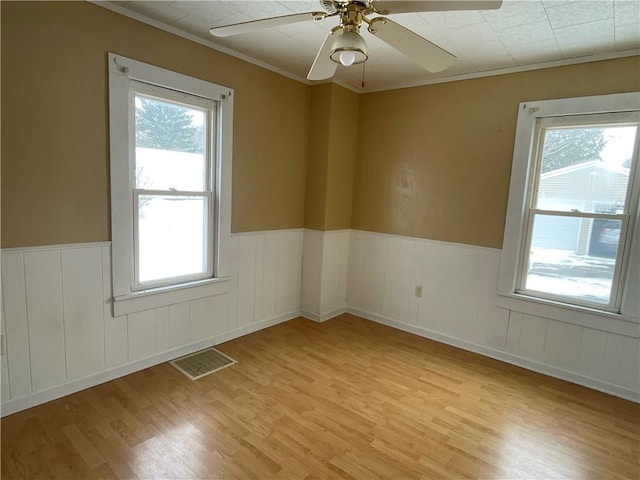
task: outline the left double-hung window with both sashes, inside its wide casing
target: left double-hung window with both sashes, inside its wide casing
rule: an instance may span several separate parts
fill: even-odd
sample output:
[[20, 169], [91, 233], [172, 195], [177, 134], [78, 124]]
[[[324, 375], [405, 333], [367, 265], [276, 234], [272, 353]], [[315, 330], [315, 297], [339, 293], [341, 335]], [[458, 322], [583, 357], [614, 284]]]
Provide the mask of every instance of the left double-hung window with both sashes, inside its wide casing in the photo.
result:
[[216, 103], [131, 82], [133, 289], [213, 275]]

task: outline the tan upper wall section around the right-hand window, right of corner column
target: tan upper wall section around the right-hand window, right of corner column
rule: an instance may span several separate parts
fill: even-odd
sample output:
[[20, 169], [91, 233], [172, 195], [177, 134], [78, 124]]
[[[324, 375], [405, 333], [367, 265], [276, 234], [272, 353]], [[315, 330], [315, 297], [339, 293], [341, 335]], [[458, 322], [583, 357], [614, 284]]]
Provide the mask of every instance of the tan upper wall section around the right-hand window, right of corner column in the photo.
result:
[[502, 246], [519, 102], [640, 89], [640, 57], [362, 95], [352, 227]]

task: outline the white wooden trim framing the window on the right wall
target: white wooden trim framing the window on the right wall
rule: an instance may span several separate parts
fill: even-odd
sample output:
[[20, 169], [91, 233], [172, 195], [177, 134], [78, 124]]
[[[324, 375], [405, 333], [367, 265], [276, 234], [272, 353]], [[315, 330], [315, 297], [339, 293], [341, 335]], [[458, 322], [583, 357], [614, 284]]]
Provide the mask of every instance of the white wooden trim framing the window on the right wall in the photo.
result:
[[[498, 278], [496, 305], [518, 312], [551, 318], [623, 335], [640, 336], [640, 219], [630, 229], [627, 269], [624, 273], [620, 313], [580, 307], [553, 300], [516, 293], [521, 248], [525, 244], [524, 218], [527, 206], [530, 161], [535, 141], [536, 120], [543, 117], [582, 115], [590, 113], [630, 112], [640, 110], [640, 93], [621, 93], [593, 97], [567, 98], [523, 102], [519, 106], [516, 127], [509, 204], [505, 223], [504, 242]], [[640, 182], [640, 168], [636, 168], [635, 182]], [[630, 209], [638, 210], [638, 202]]]

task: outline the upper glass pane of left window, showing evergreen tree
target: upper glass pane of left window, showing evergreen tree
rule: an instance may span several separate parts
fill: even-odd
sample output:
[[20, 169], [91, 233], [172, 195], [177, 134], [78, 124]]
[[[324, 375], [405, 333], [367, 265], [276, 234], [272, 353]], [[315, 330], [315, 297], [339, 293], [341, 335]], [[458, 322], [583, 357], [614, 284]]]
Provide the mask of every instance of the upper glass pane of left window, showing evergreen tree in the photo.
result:
[[207, 187], [203, 110], [135, 97], [136, 188], [203, 191]]

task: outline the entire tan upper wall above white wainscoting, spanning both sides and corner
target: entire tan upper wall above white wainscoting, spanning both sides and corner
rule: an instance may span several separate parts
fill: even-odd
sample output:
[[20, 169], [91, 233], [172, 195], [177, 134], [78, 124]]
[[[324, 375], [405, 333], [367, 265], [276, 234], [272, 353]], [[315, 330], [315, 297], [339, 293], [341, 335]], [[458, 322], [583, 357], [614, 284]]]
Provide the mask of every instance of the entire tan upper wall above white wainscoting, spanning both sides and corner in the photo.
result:
[[109, 51], [235, 89], [235, 232], [500, 247], [518, 103], [640, 88], [631, 57], [359, 96], [85, 2], [1, 8], [3, 247], [110, 239]]

